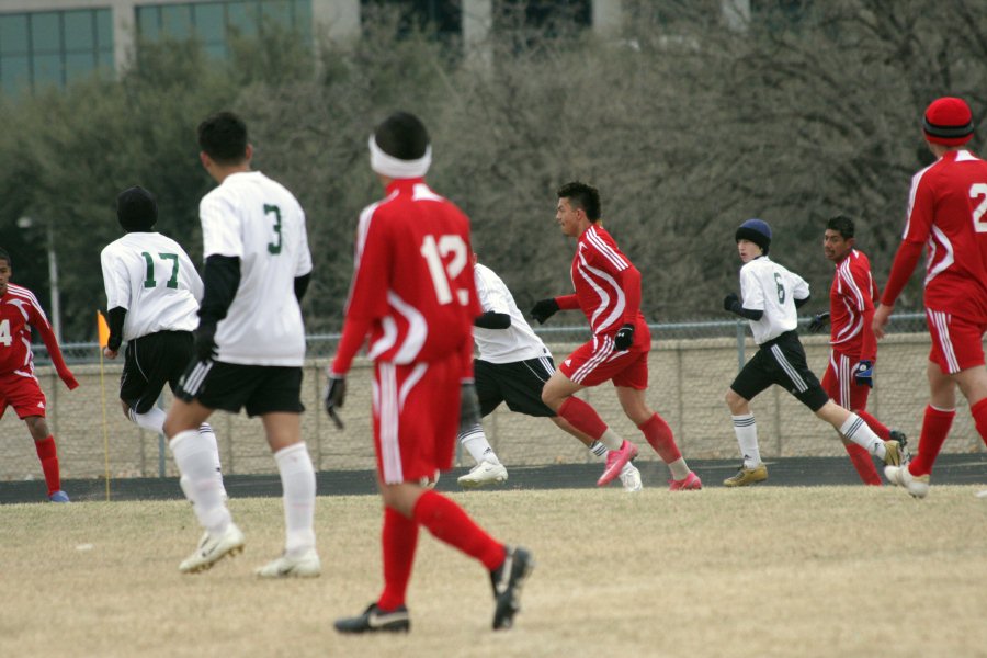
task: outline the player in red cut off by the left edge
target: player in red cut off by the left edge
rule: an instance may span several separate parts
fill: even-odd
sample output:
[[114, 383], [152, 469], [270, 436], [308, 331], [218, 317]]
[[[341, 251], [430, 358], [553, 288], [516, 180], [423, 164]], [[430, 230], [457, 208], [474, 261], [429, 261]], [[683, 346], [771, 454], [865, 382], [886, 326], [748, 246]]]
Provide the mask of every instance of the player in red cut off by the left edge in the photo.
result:
[[34, 439], [34, 449], [48, 487], [48, 500], [68, 502], [68, 495], [61, 490], [55, 436], [45, 421], [45, 394], [34, 375], [32, 327], [41, 334], [52, 364], [69, 390], [78, 387], [79, 383], [61, 358], [58, 340], [37, 297], [27, 288], [10, 283], [12, 271], [10, 254], [0, 249], [0, 417], [7, 407], [14, 408]]

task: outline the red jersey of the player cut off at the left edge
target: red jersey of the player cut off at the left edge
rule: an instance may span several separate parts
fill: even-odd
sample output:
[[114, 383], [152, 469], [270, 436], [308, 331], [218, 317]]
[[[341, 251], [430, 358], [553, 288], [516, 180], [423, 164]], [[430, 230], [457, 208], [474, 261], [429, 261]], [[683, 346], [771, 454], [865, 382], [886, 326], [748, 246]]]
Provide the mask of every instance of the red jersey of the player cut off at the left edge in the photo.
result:
[[[8, 283], [7, 292], [0, 296], [0, 374], [34, 376], [31, 327], [37, 328], [46, 345], [55, 342], [52, 326], [34, 293]], [[60, 361], [61, 353], [56, 349], [53, 362], [57, 364]], [[65, 367], [65, 364], [61, 365]]]

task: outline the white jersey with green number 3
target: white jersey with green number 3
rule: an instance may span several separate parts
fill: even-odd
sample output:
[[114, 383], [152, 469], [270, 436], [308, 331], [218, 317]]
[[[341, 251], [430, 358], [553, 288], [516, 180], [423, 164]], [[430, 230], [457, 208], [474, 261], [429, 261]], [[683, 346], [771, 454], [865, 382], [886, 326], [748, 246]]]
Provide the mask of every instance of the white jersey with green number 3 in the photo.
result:
[[311, 272], [305, 213], [259, 171], [228, 175], [198, 206], [203, 258], [240, 259], [240, 285], [216, 330], [217, 361], [300, 366], [305, 328], [296, 276]]

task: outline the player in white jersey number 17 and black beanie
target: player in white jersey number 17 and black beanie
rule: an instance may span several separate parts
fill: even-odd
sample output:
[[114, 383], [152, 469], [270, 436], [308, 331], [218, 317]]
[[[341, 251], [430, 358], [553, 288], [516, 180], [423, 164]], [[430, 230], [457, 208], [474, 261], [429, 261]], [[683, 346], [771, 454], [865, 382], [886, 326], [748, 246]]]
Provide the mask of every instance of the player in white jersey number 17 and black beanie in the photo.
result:
[[[192, 359], [192, 330], [202, 298], [202, 279], [178, 242], [154, 230], [158, 204], [144, 188], [129, 188], [116, 197], [116, 219], [126, 232], [100, 253], [110, 339], [103, 355], [116, 359], [127, 341], [120, 377], [120, 402], [125, 417], [159, 434], [164, 411], [155, 406], [164, 384], [174, 393]], [[209, 423], [198, 428], [214, 455], [215, 478], [223, 488], [219, 449]], [[181, 481], [184, 488], [188, 483]]]

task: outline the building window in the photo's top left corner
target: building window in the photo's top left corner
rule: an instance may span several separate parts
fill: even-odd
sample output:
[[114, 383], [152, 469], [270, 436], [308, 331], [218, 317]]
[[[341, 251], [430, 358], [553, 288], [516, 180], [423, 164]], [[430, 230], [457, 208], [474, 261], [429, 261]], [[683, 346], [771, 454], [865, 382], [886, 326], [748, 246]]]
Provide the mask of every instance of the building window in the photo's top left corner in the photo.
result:
[[0, 14], [0, 89], [19, 95], [113, 71], [109, 9]]

